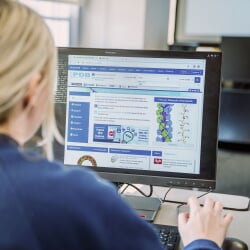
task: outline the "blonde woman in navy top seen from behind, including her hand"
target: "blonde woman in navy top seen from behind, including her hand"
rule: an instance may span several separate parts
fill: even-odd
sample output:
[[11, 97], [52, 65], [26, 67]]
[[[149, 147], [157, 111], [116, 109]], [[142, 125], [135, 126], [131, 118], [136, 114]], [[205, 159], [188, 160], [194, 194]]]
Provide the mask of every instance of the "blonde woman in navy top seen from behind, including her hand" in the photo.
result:
[[[0, 249], [161, 249], [151, 226], [116, 190], [80, 168], [24, 150], [41, 126], [51, 160], [56, 49], [42, 19], [0, 1]], [[231, 215], [207, 199], [179, 216], [186, 249], [219, 249]]]

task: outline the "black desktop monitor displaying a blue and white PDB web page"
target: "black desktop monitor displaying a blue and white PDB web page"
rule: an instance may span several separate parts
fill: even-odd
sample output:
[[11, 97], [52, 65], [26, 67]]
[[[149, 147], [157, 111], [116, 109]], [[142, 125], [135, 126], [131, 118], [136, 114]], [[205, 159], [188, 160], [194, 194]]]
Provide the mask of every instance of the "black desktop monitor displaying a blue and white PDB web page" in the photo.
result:
[[220, 69], [216, 52], [59, 48], [64, 164], [112, 182], [214, 188]]

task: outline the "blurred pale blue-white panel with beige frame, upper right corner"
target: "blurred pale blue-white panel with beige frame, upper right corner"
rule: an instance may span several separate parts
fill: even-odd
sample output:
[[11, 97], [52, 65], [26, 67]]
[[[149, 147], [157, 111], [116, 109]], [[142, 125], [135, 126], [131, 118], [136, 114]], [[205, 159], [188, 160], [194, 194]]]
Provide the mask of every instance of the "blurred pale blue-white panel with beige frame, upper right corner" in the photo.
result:
[[[175, 43], [218, 45], [222, 36], [250, 36], [249, 0], [178, 0]], [[236, 11], [237, 10], [237, 11]], [[173, 40], [173, 38], [172, 38]]]

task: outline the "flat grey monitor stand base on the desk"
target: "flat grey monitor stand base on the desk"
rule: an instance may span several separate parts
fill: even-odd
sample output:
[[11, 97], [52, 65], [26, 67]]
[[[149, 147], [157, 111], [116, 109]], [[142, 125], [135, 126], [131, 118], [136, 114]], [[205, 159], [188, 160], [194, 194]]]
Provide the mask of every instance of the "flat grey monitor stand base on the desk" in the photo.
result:
[[122, 195], [122, 198], [135, 209], [139, 217], [153, 222], [160, 209], [161, 200], [155, 197], [143, 197], [136, 195]]

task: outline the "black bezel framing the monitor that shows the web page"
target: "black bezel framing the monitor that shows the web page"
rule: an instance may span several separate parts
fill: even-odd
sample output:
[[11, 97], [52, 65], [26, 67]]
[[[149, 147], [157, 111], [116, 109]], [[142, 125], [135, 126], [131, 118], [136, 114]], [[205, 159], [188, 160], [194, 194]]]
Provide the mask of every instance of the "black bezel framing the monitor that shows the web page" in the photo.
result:
[[220, 52], [126, 50], [99, 48], [58, 48], [64, 55], [168, 57], [206, 60], [205, 91], [201, 139], [201, 174], [163, 173], [156, 171], [94, 167], [101, 177], [118, 183], [140, 183], [156, 186], [180, 186], [214, 189], [216, 186], [218, 116], [221, 88]]

